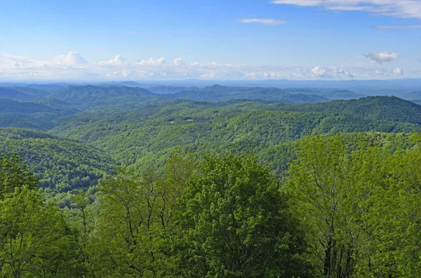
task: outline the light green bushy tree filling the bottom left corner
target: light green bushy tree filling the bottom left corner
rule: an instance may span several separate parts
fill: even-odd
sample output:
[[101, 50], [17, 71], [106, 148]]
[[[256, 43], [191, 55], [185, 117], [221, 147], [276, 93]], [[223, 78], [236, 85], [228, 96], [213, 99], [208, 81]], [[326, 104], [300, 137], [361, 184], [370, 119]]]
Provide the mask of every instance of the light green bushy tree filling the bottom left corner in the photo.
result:
[[76, 237], [57, 206], [16, 187], [0, 201], [0, 263], [4, 277], [78, 277]]

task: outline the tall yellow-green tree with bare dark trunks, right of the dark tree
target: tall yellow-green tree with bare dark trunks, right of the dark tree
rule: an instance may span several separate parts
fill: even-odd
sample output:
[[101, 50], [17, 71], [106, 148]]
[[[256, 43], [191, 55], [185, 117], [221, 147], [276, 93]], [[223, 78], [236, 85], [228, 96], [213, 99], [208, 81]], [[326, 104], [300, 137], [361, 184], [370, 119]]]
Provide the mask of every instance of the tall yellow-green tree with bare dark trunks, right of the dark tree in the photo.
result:
[[306, 223], [312, 263], [321, 277], [352, 277], [361, 234], [359, 205], [365, 196], [355, 179], [361, 167], [352, 163], [339, 135], [309, 135], [297, 157], [288, 187]]

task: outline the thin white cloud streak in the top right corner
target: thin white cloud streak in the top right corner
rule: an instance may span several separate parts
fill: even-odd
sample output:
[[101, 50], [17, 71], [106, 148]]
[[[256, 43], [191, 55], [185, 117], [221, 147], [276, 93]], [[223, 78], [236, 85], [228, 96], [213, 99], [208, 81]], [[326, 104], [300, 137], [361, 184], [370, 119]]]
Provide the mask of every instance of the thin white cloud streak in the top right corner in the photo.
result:
[[319, 6], [331, 11], [366, 11], [397, 18], [421, 19], [421, 0], [272, 0], [270, 3]]

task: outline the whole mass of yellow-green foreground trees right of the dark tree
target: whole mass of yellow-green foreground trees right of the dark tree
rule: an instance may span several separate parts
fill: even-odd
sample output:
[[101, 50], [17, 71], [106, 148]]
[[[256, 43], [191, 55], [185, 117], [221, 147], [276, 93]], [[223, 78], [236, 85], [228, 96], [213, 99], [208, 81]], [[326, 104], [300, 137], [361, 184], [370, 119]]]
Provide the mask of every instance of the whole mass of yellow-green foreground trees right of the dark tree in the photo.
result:
[[309, 260], [321, 277], [419, 277], [419, 141], [396, 150], [368, 139], [348, 151], [340, 136], [300, 143], [288, 188], [306, 223]]

